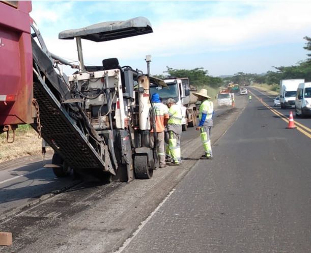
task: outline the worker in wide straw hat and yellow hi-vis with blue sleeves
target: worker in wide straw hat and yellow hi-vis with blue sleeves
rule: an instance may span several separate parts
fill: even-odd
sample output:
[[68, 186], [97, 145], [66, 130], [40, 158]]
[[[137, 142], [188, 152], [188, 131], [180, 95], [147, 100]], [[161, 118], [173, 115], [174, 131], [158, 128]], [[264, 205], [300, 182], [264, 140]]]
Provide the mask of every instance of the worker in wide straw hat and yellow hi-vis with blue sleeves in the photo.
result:
[[196, 130], [201, 131], [201, 141], [204, 147], [204, 155], [201, 159], [212, 159], [212, 146], [211, 146], [211, 128], [213, 126], [213, 113], [214, 104], [209, 99], [210, 96], [207, 95], [206, 89], [201, 89], [200, 92], [193, 93], [197, 96], [197, 99], [201, 101], [200, 111], [199, 111], [199, 126]]

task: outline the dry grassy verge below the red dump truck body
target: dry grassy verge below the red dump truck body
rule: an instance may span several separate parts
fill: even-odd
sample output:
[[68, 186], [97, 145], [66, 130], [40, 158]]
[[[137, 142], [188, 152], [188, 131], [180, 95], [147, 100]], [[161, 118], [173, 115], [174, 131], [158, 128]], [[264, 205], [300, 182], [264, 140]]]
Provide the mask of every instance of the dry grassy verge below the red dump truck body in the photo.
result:
[[[12, 141], [13, 133], [9, 133], [9, 141]], [[7, 133], [0, 134], [0, 163], [27, 155], [41, 154], [42, 139], [29, 124], [19, 125], [15, 131], [15, 141], [7, 143]]]

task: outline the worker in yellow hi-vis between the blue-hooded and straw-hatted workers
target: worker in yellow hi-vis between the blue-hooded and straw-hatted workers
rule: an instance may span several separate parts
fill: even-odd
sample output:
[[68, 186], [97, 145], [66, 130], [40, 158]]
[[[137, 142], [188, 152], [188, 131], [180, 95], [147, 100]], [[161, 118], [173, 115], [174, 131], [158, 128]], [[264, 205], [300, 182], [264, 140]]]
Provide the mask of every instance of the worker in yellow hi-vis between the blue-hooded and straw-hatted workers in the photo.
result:
[[172, 158], [172, 162], [169, 165], [181, 164], [181, 151], [180, 151], [180, 137], [181, 137], [181, 107], [175, 104], [173, 98], [168, 98], [166, 101], [168, 109], [169, 119], [167, 121], [168, 131], [168, 157]]

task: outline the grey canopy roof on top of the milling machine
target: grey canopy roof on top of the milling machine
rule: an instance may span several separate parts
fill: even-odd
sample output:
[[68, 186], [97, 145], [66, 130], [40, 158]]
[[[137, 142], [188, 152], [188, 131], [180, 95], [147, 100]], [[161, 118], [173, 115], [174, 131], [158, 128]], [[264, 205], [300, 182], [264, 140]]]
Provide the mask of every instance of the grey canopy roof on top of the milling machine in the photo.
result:
[[152, 32], [151, 23], [147, 18], [135, 17], [125, 21], [108, 21], [80, 29], [66, 30], [59, 33], [59, 39], [81, 37], [81, 39], [101, 42]]

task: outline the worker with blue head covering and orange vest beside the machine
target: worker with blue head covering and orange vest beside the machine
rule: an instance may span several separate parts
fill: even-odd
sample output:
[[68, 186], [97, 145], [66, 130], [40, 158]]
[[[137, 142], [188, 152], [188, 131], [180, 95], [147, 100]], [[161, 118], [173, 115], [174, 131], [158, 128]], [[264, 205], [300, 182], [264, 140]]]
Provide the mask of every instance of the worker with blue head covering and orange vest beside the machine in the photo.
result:
[[[155, 111], [155, 124], [157, 132], [157, 151], [159, 157], [159, 167], [165, 168], [165, 149], [164, 149], [164, 127], [168, 121], [168, 108], [160, 101], [160, 96], [158, 93], [152, 94], [151, 101]], [[151, 130], [152, 134], [150, 135], [150, 144], [151, 147], [154, 145], [154, 130]]]

